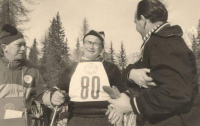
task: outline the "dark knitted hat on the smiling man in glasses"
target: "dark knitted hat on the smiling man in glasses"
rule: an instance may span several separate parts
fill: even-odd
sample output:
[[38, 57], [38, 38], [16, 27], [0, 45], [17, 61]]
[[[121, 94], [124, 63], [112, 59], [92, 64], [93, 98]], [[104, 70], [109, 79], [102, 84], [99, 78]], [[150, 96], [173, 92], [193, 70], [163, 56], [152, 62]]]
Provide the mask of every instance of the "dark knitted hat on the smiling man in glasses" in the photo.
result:
[[83, 41], [84, 41], [85, 37], [87, 37], [88, 35], [94, 35], [94, 36], [98, 37], [101, 40], [102, 46], [104, 48], [105, 34], [103, 31], [98, 32], [95, 30], [91, 30], [83, 37]]

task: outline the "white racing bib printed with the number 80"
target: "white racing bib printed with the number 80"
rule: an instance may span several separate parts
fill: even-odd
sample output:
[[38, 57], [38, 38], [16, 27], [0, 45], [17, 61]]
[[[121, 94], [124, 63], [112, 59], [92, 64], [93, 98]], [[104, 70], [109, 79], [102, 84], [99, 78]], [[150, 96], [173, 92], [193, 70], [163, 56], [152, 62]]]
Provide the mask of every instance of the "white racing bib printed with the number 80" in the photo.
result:
[[103, 86], [110, 86], [102, 62], [80, 62], [71, 78], [69, 96], [71, 101], [106, 101], [109, 95]]

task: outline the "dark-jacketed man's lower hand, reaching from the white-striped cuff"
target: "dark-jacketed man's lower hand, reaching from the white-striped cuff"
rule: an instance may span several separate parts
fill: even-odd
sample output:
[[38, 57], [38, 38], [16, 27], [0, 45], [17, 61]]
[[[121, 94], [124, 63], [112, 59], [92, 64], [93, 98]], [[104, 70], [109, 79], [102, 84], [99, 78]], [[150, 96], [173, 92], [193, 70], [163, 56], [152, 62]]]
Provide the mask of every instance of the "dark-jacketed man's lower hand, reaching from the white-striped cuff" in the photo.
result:
[[125, 93], [121, 93], [120, 95], [121, 97], [117, 99], [108, 100], [108, 102], [111, 103], [111, 107], [115, 108], [120, 113], [128, 113], [132, 111], [130, 98]]

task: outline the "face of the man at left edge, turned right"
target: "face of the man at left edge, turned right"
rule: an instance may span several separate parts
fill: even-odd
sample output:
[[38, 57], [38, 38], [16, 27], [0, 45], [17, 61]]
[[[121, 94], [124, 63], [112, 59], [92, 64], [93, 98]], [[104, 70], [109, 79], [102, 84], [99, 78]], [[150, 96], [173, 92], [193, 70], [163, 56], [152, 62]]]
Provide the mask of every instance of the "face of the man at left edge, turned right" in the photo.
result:
[[5, 45], [4, 55], [7, 59], [21, 60], [25, 57], [26, 54], [26, 42], [24, 38], [15, 40], [9, 45]]

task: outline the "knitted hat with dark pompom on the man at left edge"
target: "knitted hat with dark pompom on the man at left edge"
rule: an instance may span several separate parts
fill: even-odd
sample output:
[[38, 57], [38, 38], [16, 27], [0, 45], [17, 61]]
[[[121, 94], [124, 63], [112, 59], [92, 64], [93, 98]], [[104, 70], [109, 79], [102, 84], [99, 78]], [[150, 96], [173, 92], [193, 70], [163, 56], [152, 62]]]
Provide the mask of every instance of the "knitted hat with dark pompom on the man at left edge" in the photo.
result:
[[18, 31], [14, 26], [6, 24], [3, 26], [2, 32], [0, 34], [0, 45], [9, 45], [11, 42], [23, 37], [24, 36], [22, 35], [22, 33]]

